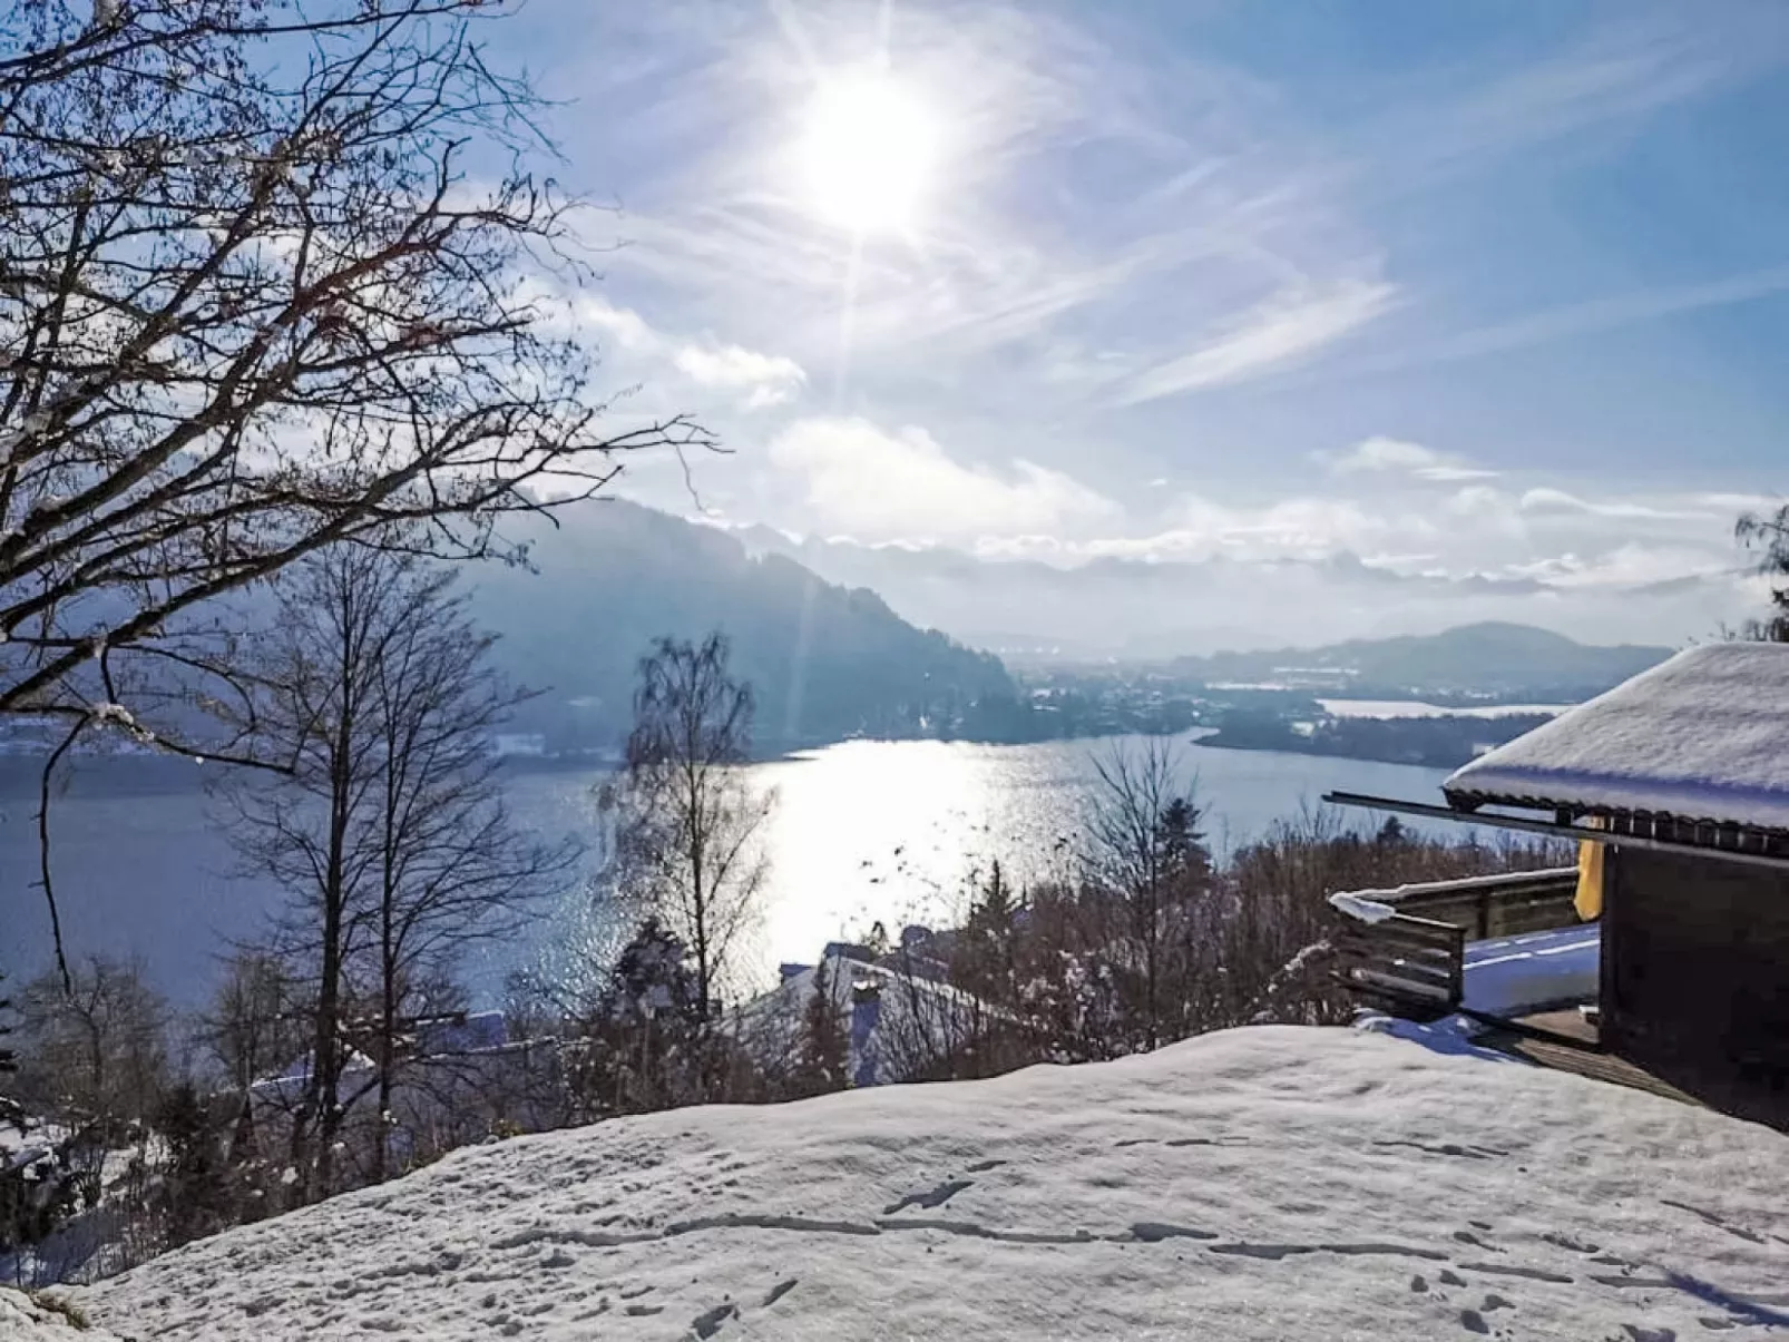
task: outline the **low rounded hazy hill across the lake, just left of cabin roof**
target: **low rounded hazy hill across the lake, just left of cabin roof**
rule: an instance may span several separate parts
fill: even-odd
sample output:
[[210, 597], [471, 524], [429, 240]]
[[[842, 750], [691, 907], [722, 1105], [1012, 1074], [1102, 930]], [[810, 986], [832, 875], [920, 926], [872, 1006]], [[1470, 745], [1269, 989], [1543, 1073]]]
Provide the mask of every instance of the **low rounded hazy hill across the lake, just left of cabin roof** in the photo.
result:
[[1322, 648], [1215, 653], [1174, 660], [1204, 682], [1277, 682], [1374, 696], [1494, 696], [1574, 703], [1657, 666], [1671, 648], [1603, 648], [1535, 628], [1487, 621], [1442, 633], [1351, 639]]

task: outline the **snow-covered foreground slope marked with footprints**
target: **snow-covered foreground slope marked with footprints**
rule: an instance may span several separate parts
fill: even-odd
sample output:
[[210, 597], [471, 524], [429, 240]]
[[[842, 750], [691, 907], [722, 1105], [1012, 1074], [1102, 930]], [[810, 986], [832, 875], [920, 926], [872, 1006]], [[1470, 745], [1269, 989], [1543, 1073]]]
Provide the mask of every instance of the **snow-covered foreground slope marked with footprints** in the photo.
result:
[[[79, 1292], [125, 1338], [1762, 1338], [1789, 1138], [1356, 1031], [458, 1152]], [[1778, 1333], [1780, 1335], [1780, 1333]]]

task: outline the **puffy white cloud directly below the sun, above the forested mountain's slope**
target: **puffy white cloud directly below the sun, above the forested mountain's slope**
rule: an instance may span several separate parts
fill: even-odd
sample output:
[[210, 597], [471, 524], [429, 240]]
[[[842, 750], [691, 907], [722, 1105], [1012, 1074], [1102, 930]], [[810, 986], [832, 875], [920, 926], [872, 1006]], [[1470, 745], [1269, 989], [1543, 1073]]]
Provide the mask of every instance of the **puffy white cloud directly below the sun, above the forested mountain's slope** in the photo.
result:
[[1116, 503], [1059, 471], [966, 465], [921, 428], [801, 419], [771, 438], [769, 458], [801, 478], [825, 526], [864, 540], [1025, 535], [1118, 515]]

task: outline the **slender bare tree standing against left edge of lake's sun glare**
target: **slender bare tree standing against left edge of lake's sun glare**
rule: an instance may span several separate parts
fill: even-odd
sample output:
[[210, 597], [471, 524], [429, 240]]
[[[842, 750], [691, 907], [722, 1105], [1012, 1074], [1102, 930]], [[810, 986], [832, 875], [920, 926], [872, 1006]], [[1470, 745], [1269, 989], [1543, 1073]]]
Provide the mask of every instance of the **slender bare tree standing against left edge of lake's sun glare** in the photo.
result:
[[759, 828], [775, 805], [741, 766], [751, 755], [751, 687], [726, 669], [726, 639], [658, 639], [640, 658], [621, 811], [619, 886], [689, 947], [705, 1025], [766, 879]]

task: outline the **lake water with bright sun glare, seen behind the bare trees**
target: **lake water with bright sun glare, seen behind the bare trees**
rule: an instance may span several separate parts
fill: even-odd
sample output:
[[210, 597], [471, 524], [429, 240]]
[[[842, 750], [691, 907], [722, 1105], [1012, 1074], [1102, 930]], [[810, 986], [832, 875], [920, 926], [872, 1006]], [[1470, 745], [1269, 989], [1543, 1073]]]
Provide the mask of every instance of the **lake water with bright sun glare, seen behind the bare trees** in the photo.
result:
[[[1123, 744], [852, 741], [751, 766], [753, 780], [778, 794], [764, 836], [769, 888], [748, 952], [751, 979], [771, 982], [778, 961], [810, 963], [828, 939], [861, 936], [875, 920], [889, 932], [948, 922], [964, 905], [970, 873], [993, 859], [1016, 880], [1059, 868], [1095, 791], [1093, 752]], [[1181, 744], [1218, 854], [1315, 807], [1333, 787], [1435, 800], [1444, 777]], [[504, 787], [515, 816], [542, 836], [589, 843], [598, 832], [590, 791], [601, 777], [596, 768], [526, 768], [510, 771]], [[199, 782], [200, 768], [179, 760], [82, 760], [52, 809], [70, 952], [138, 954], [179, 1006], [206, 1000], [218, 956], [254, 938], [279, 902], [277, 889], [234, 870], [218, 809]], [[0, 766], [0, 968], [14, 975], [50, 959], [48, 916], [32, 884], [34, 786], [29, 760]], [[1378, 818], [1351, 823], [1374, 827]], [[587, 868], [598, 862], [592, 852]], [[592, 909], [589, 889], [567, 889], [528, 938], [483, 948], [469, 982], [496, 1000], [512, 968], [564, 961], [580, 945], [601, 952], [612, 934], [614, 918]]]

